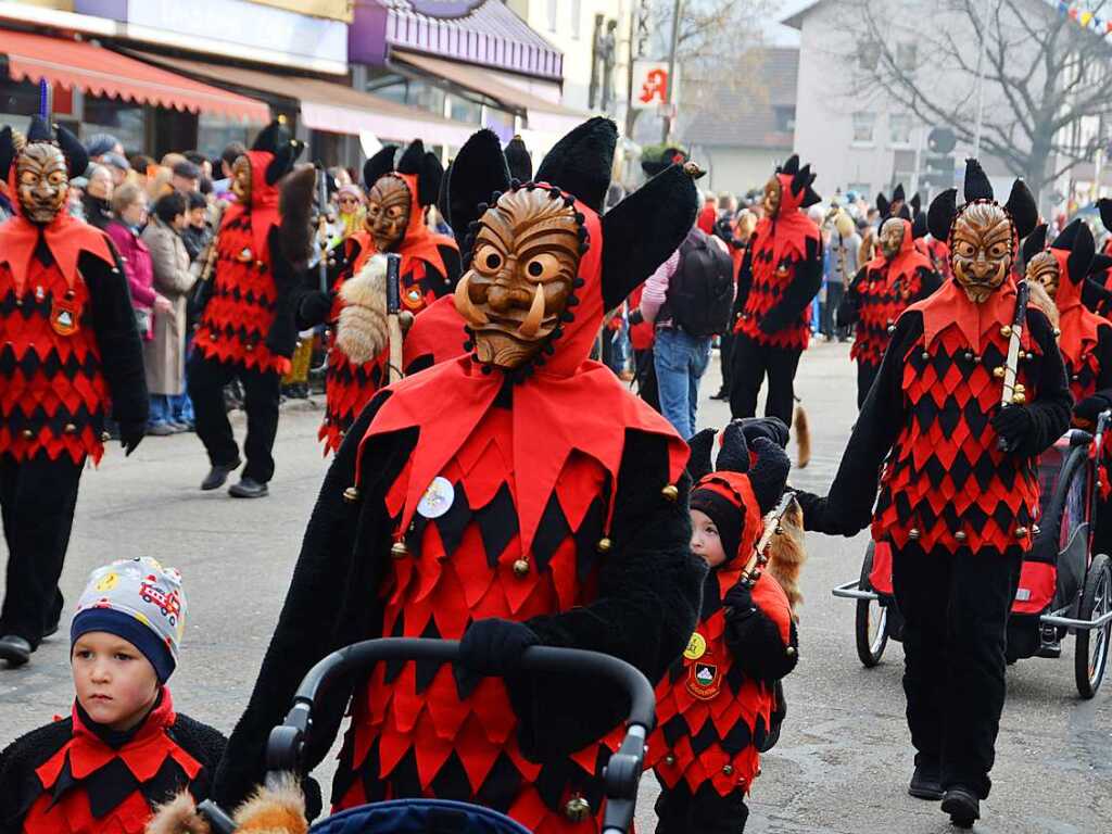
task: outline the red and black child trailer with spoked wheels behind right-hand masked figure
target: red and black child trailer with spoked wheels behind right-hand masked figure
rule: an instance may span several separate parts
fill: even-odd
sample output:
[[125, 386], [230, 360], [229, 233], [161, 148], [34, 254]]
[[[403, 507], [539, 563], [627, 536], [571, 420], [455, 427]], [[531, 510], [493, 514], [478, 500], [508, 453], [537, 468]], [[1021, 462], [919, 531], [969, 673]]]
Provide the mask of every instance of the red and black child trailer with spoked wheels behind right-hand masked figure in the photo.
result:
[[[1061, 638], [1072, 633], [1074, 681], [1083, 698], [1100, 688], [1108, 666], [1112, 632], [1112, 563], [1095, 553], [1099, 466], [1112, 411], [1095, 433], [1071, 429], [1039, 458], [1042, 494], [1040, 524], [1023, 562], [1007, 624], [1007, 662], [1059, 657]], [[892, 594], [892, 554], [871, 542], [861, 577], [838, 585], [834, 596], [857, 605], [857, 656], [875, 666], [888, 637], [900, 639], [903, 619]]]

